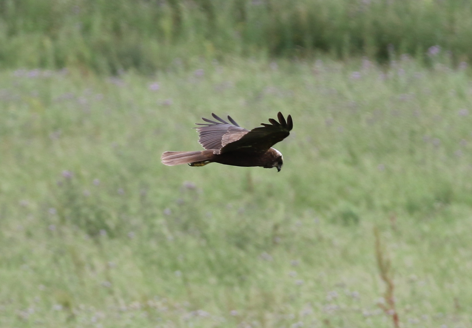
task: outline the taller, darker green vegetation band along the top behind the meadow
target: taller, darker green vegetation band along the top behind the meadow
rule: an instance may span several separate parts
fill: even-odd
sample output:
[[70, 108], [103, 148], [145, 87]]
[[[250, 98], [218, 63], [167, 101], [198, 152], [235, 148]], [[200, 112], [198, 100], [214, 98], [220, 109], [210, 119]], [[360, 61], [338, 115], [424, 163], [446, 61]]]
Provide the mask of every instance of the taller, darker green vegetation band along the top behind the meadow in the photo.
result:
[[146, 74], [226, 55], [472, 59], [468, 0], [0, 0], [0, 68]]

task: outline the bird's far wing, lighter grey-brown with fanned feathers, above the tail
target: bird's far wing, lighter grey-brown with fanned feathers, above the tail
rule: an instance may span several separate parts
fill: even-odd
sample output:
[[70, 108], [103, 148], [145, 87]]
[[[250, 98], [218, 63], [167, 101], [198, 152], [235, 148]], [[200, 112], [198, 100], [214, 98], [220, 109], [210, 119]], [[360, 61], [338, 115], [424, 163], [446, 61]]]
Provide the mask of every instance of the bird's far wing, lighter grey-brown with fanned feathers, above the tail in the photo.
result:
[[211, 121], [202, 117], [202, 120], [207, 123], [195, 123], [197, 125], [203, 125], [202, 127], [195, 128], [199, 132], [198, 142], [205, 149], [214, 149], [215, 154], [220, 153], [220, 149], [228, 143], [238, 140], [246, 133], [248, 129], [241, 128], [235, 120], [228, 116], [228, 120], [224, 121], [214, 113], [211, 113], [218, 122]]

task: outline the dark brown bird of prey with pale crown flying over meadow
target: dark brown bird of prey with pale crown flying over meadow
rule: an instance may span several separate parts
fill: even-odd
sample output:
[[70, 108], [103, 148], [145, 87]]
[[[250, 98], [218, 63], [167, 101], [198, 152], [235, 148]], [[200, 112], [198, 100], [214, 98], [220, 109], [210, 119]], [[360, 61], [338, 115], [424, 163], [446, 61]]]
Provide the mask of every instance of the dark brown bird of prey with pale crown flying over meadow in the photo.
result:
[[269, 119], [271, 124], [261, 123], [261, 127], [247, 130], [241, 128], [228, 116], [227, 121], [211, 113], [216, 121], [202, 118], [206, 123], [195, 123], [199, 132], [198, 142], [206, 150], [202, 151], [166, 151], [162, 154], [163, 164], [173, 166], [189, 164], [203, 166], [220, 163], [234, 166], [277, 167], [280, 172], [284, 159], [273, 145], [287, 138], [293, 128], [292, 116], [287, 121], [278, 112], [278, 121]]

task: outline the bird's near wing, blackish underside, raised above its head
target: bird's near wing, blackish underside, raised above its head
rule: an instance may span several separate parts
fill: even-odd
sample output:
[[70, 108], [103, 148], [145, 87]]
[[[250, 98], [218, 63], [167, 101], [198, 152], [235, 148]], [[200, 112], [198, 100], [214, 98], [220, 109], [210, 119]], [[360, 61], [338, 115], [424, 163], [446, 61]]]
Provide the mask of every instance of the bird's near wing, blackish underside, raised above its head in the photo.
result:
[[287, 138], [293, 128], [292, 116], [287, 121], [281, 112], [278, 112], [278, 121], [269, 119], [271, 124], [261, 123], [262, 127], [254, 128], [242, 137], [226, 143], [220, 153], [241, 150], [251, 153], [265, 153], [270, 147]]

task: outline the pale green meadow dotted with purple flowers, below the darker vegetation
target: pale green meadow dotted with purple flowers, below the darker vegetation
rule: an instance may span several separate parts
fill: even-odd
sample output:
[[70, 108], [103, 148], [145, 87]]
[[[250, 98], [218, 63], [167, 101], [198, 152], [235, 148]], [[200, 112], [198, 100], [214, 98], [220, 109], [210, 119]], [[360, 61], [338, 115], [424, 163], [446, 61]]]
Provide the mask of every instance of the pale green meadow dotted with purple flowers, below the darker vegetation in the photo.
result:
[[[0, 327], [393, 327], [376, 252], [402, 327], [472, 327], [472, 79], [431, 67], [1, 72]], [[280, 173], [160, 164], [278, 111]]]

